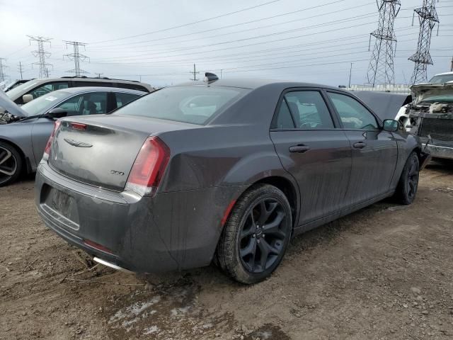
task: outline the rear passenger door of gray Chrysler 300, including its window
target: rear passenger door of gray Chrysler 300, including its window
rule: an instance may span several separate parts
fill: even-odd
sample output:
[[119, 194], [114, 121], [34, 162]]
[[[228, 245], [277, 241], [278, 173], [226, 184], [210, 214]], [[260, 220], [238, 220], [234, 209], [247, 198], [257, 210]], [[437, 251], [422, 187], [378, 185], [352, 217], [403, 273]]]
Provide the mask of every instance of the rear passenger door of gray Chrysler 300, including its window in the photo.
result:
[[352, 167], [350, 142], [338, 129], [321, 89], [285, 91], [270, 137], [283, 167], [299, 183], [299, 225], [345, 207]]

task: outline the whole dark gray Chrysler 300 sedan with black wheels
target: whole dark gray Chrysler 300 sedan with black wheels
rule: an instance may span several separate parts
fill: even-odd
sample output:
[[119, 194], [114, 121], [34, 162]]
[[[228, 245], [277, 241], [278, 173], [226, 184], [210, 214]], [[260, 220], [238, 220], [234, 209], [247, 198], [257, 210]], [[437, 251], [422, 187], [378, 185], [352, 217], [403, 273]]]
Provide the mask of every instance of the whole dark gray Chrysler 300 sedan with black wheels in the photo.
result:
[[207, 74], [58, 121], [35, 202], [48, 227], [113, 268], [214, 261], [256, 283], [292, 235], [389, 196], [410, 204], [428, 158], [346, 91]]

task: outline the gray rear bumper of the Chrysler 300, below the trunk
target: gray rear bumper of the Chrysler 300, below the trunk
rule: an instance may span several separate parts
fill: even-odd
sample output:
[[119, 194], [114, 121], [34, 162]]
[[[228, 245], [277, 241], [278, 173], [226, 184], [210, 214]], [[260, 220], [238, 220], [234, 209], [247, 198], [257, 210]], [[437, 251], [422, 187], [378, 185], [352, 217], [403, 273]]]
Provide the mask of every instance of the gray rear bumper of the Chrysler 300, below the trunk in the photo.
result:
[[[62, 202], [49, 199], [54, 191], [71, 201], [70, 209], [55, 206]], [[205, 188], [141, 197], [76, 182], [42, 162], [35, 204], [45, 225], [70, 244], [113, 266], [151, 273], [208, 265], [222, 231], [223, 212], [237, 191]]]

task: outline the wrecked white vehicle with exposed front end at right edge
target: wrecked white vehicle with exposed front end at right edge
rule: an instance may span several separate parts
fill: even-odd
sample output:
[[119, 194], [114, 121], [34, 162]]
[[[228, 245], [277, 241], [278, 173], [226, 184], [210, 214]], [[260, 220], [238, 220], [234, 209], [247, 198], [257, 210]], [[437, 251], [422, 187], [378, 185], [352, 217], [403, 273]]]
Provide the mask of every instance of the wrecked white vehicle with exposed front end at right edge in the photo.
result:
[[453, 159], [453, 82], [411, 87], [406, 128], [420, 137], [433, 158]]

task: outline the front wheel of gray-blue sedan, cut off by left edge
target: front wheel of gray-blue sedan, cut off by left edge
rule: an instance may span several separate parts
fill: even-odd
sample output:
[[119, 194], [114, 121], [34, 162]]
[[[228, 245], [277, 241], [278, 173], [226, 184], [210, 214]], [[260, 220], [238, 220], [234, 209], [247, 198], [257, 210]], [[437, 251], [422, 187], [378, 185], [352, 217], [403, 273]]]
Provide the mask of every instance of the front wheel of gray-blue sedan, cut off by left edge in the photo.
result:
[[0, 142], [0, 186], [7, 186], [21, 176], [22, 157], [17, 149]]

